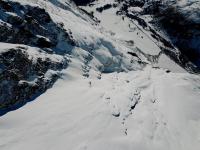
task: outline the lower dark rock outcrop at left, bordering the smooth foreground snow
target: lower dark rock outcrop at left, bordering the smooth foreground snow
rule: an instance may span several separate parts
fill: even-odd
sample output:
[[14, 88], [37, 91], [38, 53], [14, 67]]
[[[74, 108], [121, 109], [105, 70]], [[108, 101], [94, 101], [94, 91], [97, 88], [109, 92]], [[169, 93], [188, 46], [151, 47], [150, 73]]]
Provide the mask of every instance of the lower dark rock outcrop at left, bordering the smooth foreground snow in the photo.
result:
[[[25, 104], [51, 87], [59, 77], [57, 70], [67, 67], [68, 59], [52, 60], [50, 54], [29, 54], [29, 49], [17, 47], [0, 54], [0, 112]], [[43, 56], [45, 55], [45, 57]]]

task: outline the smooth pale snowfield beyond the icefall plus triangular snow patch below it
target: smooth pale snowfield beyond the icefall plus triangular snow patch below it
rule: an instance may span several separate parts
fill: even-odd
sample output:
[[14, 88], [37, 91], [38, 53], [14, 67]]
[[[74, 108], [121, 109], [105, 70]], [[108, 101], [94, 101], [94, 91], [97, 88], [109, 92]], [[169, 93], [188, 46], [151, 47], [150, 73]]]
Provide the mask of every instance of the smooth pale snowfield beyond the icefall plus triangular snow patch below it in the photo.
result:
[[[93, 12], [93, 15], [100, 20], [100, 25], [104, 27], [105, 32], [112, 35], [112, 38], [117, 39], [120, 43], [127, 43], [129, 47], [136, 48], [135, 53], [138, 55], [155, 56], [157, 59], [154, 66], [168, 68], [173, 72], [185, 72], [173, 60], [165, 54], [161, 54], [160, 43], [155, 40], [147, 30], [144, 30], [137, 21], [128, 17], [116, 15], [119, 7], [111, 7], [102, 12], [96, 9], [104, 7], [106, 4], [114, 5], [114, 0], [102, 0], [93, 3], [93, 6], [83, 6], [82, 8], [88, 12]], [[130, 8], [131, 9], [131, 8]], [[141, 8], [132, 7], [131, 11], [139, 11]], [[145, 20], [151, 20], [151, 16], [144, 17]], [[164, 36], [164, 35], [162, 35]], [[131, 43], [133, 41], [133, 43]], [[131, 44], [130, 44], [131, 43]], [[140, 56], [142, 58], [142, 56]]]

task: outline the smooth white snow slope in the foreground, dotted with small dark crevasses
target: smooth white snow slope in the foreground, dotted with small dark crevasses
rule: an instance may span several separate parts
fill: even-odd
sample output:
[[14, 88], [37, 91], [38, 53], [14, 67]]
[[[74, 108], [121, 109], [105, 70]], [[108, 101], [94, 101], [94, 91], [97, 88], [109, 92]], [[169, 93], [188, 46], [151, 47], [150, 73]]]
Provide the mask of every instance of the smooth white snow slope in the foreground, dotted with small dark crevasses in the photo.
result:
[[198, 150], [198, 76], [147, 67], [99, 80], [78, 71], [64, 70], [45, 94], [0, 118], [2, 150]]

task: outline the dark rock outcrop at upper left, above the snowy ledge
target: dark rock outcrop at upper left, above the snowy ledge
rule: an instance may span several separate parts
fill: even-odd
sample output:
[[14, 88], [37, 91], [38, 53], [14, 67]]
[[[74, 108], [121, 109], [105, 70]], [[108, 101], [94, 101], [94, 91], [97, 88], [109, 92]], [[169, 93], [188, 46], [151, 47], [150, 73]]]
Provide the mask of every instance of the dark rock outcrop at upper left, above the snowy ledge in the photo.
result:
[[0, 1], [0, 13], [0, 42], [52, 48], [63, 38], [75, 45], [70, 33], [54, 23], [43, 8]]

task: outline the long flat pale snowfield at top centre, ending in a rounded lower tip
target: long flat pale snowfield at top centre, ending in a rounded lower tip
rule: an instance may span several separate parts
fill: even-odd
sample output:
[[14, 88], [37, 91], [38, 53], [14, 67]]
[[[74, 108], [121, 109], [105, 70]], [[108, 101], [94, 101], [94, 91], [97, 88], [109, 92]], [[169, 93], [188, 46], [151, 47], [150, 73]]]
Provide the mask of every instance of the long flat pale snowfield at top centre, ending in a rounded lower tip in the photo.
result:
[[134, 40], [135, 46], [147, 54], [156, 55], [160, 52], [156, 43], [140, 30], [136, 22], [132, 22], [128, 18], [122, 19], [122, 16], [116, 15], [119, 8], [110, 8], [103, 12], [96, 11], [96, 8], [104, 6], [107, 3], [113, 4], [114, 1], [103, 0], [103, 2], [96, 3], [94, 7], [87, 6], [83, 8], [88, 11], [93, 11], [94, 16], [101, 20], [100, 24], [107, 29], [107, 32], [114, 34], [115, 38], [122, 41]]

